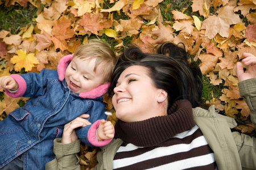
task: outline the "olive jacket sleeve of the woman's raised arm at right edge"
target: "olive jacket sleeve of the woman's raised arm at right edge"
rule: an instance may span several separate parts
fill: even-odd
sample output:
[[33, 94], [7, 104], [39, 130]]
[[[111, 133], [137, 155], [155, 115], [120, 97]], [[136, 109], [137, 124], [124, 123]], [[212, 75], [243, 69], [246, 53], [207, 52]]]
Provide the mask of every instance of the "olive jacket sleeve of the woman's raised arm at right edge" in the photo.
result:
[[[250, 108], [251, 121], [256, 123], [256, 78], [238, 83], [240, 95]], [[256, 138], [234, 131], [232, 133], [243, 169], [256, 169]]]

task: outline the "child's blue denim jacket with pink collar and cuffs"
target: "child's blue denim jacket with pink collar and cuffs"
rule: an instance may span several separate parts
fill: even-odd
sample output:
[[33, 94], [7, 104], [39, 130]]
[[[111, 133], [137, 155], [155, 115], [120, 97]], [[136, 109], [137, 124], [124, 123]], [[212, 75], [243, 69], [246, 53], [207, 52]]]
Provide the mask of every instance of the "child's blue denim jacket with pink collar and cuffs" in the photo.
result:
[[[106, 119], [103, 95], [109, 83], [89, 92], [71, 92], [64, 79], [71, 59], [72, 55], [61, 58], [57, 70], [10, 75], [19, 88], [15, 93], [6, 90], [6, 94], [30, 99], [0, 121], [0, 168], [24, 153], [24, 169], [44, 169], [55, 158], [53, 140], [62, 137], [65, 124], [83, 113], [90, 115], [92, 124]], [[76, 134], [86, 145], [97, 146], [88, 141], [91, 126], [77, 128]]]

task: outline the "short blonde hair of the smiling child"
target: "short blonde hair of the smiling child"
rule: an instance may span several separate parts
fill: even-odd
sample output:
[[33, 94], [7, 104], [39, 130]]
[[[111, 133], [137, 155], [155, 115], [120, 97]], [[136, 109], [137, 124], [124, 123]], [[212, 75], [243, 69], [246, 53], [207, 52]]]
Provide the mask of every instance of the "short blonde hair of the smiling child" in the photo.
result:
[[99, 65], [102, 65], [102, 74], [104, 74], [104, 83], [110, 82], [111, 76], [118, 57], [108, 44], [101, 40], [92, 39], [88, 40], [87, 44], [82, 44], [75, 51], [73, 58], [78, 57], [80, 59], [94, 59], [96, 58], [94, 72]]

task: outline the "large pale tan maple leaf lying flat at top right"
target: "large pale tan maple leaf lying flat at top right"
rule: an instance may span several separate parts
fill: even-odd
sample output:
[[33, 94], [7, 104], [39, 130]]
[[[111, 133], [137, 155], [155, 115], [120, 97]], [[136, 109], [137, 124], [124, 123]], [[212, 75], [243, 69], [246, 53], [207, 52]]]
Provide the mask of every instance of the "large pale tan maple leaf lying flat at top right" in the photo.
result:
[[231, 6], [221, 7], [218, 16], [212, 15], [205, 19], [201, 27], [201, 29], [206, 29], [205, 36], [213, 39], [218, 33], [222, 37], [228, 37], [230, 25], [241, 22], [239, 15], [234, 14], [233, 8]]

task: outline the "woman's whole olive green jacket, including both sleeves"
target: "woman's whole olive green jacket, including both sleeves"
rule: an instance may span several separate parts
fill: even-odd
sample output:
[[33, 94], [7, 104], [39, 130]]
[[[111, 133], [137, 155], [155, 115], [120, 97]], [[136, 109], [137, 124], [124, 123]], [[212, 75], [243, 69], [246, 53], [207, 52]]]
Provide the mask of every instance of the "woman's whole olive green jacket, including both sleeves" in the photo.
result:
[[[239, 87], [241, 96], [249, 105], [251, 120], [255, 123], [256, 78], [239, 83]], [[237, 126], [233, 118], [216, 113], [214, 105], [208, 110], [194, 108], [193, 117], [214, 152], [218, 170], [256, 169], [256, 139], [238, 132], [232, 133], [230, 129]], [[112, 169], [115, 152], [122, 142], [121, 139], [113, 139], [108, 145], [101, 147], [101, 152], [97, 155], [98, 164], [94, 169]], [[69, 147], [69, 151], [65, 150], [68, 147], [64, 147], [60, 139], [55, 139], [56, 159], [47, 163], [46, 169], [80, 169], [79, 159], [76, 157], [79, 150], [73, 149], [80, 146], [79, 140], [68, 145], [73, 146]]]

